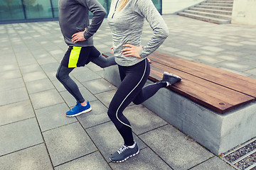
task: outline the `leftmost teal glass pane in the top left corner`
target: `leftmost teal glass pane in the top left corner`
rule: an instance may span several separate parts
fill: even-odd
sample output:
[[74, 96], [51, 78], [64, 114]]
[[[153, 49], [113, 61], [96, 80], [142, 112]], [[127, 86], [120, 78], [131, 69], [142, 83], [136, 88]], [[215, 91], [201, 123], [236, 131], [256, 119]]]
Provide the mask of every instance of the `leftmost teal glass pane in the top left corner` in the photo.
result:
[[0, 1], [0, 21], [24, 19], [21, 0]]

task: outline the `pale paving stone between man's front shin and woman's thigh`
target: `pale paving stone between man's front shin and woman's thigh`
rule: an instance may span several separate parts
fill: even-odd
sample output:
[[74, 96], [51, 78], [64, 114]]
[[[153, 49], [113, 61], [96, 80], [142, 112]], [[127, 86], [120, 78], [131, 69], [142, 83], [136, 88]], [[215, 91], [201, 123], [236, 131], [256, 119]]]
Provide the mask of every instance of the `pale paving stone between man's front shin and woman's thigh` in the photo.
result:
[[110, 84], [110, 82], [105, 79], [95, 79], [91, 81], [82, 82], [83, 85], [92, 93], [100, 94], [105, 91], [111, 91], [117, 89], [115, 86]]

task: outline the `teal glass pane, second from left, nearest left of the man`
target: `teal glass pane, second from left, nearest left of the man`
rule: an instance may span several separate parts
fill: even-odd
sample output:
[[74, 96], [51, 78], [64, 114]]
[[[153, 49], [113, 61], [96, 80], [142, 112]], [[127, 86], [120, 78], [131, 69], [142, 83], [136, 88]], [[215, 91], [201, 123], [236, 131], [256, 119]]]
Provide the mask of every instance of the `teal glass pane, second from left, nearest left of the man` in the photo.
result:
[[26, 9], [26, 18], [53, 18], [50, 0], [22, 0]]

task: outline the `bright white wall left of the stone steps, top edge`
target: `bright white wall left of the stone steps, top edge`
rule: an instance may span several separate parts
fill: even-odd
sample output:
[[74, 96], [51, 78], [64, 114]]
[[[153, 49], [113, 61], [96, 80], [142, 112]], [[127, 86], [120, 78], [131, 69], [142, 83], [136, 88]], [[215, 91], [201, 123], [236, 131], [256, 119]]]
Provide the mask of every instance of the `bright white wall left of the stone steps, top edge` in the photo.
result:
[[162, 0], [162, 13], [176, 13], [184, 8], [194, 6], [201, 3], [203, 0]]

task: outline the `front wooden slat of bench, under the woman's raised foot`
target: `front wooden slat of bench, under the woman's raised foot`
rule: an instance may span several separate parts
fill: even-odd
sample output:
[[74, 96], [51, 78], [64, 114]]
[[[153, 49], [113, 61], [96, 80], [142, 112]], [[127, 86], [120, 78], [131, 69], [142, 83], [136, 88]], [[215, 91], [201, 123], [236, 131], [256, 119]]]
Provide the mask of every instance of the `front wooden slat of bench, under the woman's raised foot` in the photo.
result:
[[205, 79], [191, 76], [191, 74], [181, 72], [157, 62], [151, 64], [151, 74], [149, 79], [154, 77], [154, 79], [152, 79], [153, 81], [161, 80], [164, 71], [172, 72], [183, 78], [181, 82], [174, 84], [174, 86], [170, 86], [170, 89], [183, 96], [191, 98], [193, 101], [201, 103], [203, 106], [211, 108], [218, 113], [226, 113], [233, 108], [237, 108], [245, 103], [250, 103], [255, 100], [255, 98], [251, 96], [241, 94], [232, 89], [227, 89]]

